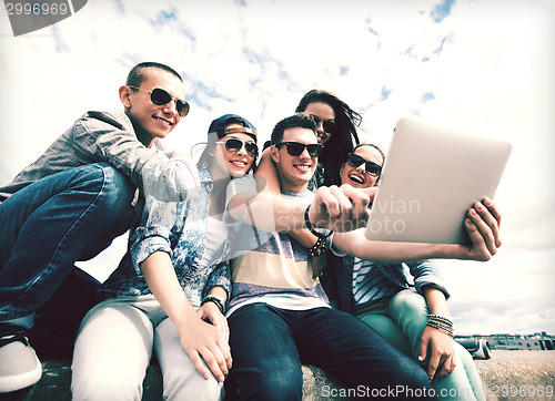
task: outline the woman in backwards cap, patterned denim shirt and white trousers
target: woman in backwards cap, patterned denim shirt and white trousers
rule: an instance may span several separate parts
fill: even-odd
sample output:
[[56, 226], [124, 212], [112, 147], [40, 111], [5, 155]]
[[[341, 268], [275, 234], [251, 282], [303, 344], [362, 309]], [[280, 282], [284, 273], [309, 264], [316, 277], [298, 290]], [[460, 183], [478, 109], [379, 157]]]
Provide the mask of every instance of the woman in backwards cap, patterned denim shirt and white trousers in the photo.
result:
[[72, 364], [73, 398], [140, 399], [154, 353], [163, 398], [219, 400], [232, 360], [224, 317], [229, 253], [239, 226], [222, 222], [228, 184], [252, 171], [256, 130], [244, 117], [212, 122], [196, 167], [199, 196], [147, 198], [127, 257], [83, 319]]

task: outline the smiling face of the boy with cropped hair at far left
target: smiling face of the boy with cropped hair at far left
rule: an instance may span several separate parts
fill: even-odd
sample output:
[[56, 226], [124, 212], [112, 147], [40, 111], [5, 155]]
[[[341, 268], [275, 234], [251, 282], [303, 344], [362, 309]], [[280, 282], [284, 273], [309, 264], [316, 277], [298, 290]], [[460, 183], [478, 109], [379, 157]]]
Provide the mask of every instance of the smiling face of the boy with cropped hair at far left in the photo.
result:
[[125, 114], [133, 123], [137, 137], [148, 146], [154, 137], [165, 137], [181, 121], [173, 100], [168, 104], [155, 105], [149, 92], [160, 88], [172, 97], [184, 99], [185, 90], [180, 79], [168, 71], [150, 68], [145, 75], [147, 79], [140, 85], [141, 90], [121, 86], [120, 100], [125, 107]]

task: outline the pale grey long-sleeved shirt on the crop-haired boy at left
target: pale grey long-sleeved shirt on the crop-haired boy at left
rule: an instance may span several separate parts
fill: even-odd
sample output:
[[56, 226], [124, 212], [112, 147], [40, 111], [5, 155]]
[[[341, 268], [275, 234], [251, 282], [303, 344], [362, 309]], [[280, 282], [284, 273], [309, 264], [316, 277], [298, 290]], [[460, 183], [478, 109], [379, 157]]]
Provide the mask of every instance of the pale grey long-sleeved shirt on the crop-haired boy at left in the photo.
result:
[[192, 198], [200, 185], [195, 166], [168, 152], [160, 140], [155, 138], [149, 147], [139, 142], [123, 111], [91, 111], [75, 121], [11, 184], [0, 187], [0, 199], [51, 174], [99, 162], [112, 164], [142, 193], [160, 200]]

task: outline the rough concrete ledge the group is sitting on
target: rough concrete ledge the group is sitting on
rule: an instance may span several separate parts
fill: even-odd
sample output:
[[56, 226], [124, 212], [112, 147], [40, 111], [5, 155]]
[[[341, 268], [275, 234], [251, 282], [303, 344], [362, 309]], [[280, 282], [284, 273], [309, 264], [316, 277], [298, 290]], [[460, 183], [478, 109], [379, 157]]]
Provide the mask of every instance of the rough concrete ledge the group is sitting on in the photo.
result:
[[[492, 351], [492, 359], [477, 360], [476, 366], [487, 400], [555, 400], [555, 351]], [[346, 400], [343, 397], [325, 397], [339, 394], [341, 387], [331, 381], [322, 370], [303, 367], [303, 400]], [[68, 361], [47, 361], [43, 363], [42, 379], [34, 387], [11, 394], [0, 394], [0, 399], [69, 401], [70, 382], [71, 368]], [[144, 379], [143, 400], [161, 399], [160, 369], [151, 366]]]

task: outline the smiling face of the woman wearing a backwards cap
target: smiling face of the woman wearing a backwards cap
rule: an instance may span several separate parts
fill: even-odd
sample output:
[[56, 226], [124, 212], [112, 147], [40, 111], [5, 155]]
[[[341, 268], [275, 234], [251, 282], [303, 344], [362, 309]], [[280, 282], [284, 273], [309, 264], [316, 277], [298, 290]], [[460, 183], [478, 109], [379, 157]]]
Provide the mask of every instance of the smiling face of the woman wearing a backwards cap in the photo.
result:
[[[226, 128], [229, 127], [243, 126], [240, 124], [229, 124]], [[230, 176], [241, 177], [249, 172], [254, 163], [254, 157], [249, 155], [244, 145], [236, 152], [228, 151], [225, 148], [225, 141], [229, 138], [236, 138], [243, 143], [254, 142], [251, 135], [241, 133], [228, 134], [219, 140], [214, 152], [215, 163], [212, 164], [211, 171], [212, 179], [214, 181]]]

